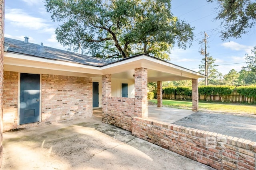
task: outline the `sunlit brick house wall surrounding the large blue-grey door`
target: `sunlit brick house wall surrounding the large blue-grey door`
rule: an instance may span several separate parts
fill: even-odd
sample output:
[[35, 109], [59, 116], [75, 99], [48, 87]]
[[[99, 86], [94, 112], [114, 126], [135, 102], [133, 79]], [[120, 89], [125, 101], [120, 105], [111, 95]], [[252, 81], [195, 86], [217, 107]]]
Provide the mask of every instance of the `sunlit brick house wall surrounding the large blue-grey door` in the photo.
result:
[[18, 125], [18, 72], [4, 72], [4, 131], [92, 116], [92, 78], [42, 74], [42, 122]]

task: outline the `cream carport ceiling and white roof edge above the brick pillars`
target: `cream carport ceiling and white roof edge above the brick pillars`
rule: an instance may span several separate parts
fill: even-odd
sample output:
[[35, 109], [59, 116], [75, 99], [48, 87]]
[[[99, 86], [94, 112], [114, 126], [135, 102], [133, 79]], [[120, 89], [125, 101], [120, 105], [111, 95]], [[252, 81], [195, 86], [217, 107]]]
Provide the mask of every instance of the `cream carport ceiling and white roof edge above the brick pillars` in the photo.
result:
[[104, 74], [112, 74], [112, 78], [134, 79], [134, 68], [148, 68], [148, 82], [190, 80], [204, 78], [204, 74], [177, 66], [148, 55], [134, 56], [120, 62], [103, 66]]

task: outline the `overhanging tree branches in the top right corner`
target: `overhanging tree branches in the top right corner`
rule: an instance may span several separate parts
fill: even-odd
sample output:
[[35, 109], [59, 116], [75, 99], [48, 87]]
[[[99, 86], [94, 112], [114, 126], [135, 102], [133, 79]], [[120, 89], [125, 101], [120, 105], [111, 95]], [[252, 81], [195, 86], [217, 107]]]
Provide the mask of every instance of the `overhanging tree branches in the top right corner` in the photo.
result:
[[218, 16], [216, 20], [222, 20], [222, 39], [230, 37], [240, 38], [256, 25], [256, 2], [255, 0], [207, 0], [216, 2]]

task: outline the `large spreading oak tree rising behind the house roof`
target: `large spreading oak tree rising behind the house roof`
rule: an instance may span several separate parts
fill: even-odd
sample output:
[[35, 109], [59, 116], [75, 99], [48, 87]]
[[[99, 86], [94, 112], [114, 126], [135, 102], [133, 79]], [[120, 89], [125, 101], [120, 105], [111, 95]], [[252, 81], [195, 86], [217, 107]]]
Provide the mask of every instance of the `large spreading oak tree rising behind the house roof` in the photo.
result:
[[61, 25], [56, 39], [69, 49], [105, 59], [138, 53], [169, 59], [177, 44], [186, 48], [193, 29], [170, 12], [171, 0], [45, 0]]

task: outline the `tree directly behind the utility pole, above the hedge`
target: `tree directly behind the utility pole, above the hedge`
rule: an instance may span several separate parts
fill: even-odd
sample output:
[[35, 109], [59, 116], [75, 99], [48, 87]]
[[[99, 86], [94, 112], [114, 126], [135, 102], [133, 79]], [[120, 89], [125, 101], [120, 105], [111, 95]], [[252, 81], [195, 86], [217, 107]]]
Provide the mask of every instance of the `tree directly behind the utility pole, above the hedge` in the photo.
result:
[[[208, 67], [208, 84], [215, 84], [215, 80], [220, 76], [220, 73], [215, 68], [217, 65], [215, 64], [216, 59], [213, 59], [212, 56], [207, 57], [207, 67]], [[202, 64], [199, 64], [199, 72], [205, 74], [205, 58], [201, 60]], [[205, 81], [205, 80], [204, 80]]]

